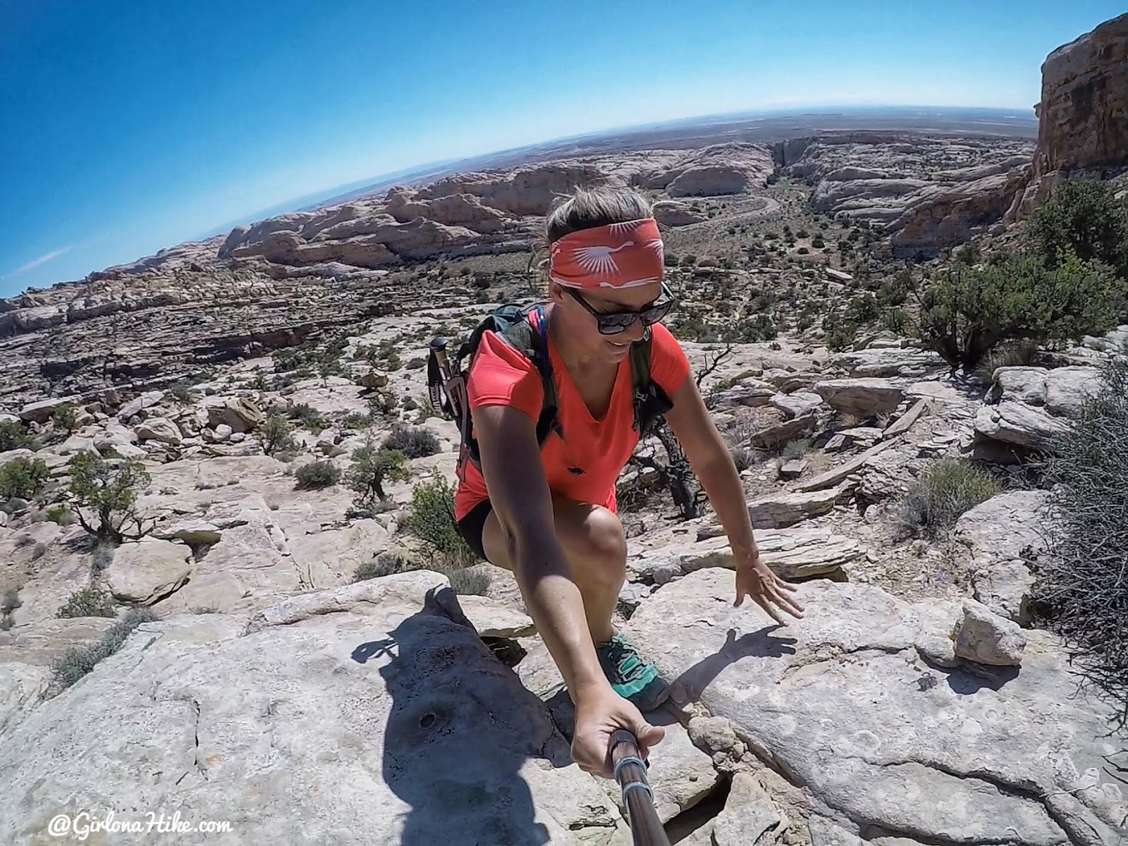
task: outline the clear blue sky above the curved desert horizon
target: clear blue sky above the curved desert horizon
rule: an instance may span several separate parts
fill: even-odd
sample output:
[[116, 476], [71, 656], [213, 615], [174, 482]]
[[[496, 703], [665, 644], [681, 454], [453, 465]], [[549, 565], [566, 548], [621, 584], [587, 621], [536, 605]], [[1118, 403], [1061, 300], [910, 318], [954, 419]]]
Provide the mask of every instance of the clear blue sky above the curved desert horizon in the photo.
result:
[[1029, 108], [1123, 0], [0, 0], [0, 296], [336, 185], [759, 107]]

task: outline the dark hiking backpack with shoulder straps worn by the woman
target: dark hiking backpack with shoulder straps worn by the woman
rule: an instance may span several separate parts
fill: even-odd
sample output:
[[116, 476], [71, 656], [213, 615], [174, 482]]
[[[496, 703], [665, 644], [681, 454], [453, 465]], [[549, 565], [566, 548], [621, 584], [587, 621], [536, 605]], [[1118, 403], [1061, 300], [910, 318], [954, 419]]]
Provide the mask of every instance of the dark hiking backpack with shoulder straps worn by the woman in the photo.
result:
[[[482, 335], [493, 332], [513, 349], [529, 359], [540, 373], [544, 400], [537, 418], [537, 444], [543, 447], [548, 435], [556, 432], [564, 437], [556, 414], [556, 381], [553, 378], [552, 361], [548, 356], [548, 328], [541, 303], [531, 306], [505, 305], [491, 311], [458, 347], [453, 359], [448, 358], [448, 341], [437, 337], [431, 342], [428, 355], [428, 394], [431, 404], [458, 424], [461, 437], [459, 466], [469, 459], [482, 468], [482, 457], [470, 420], [466, 395], [474, 353], [482, 343]], [[658, 418], [673, 407], [662, 387], [650, 378], [651, 333], [646, 329], [643, 338], [631, 345], [631, 386], [634, 402], [634, 429], [640, 440], [645, 438]]]

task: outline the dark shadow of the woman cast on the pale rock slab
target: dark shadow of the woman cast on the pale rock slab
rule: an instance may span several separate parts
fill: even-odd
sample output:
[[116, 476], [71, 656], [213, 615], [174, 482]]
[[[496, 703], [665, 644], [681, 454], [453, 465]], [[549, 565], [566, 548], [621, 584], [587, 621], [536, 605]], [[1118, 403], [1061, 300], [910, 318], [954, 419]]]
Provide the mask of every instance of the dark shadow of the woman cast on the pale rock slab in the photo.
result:
[[378, 656], [390, 656], [379, 667], [391, 698], [384, 781], [411, 808], [399, 843], [547, 843], [519, 770], [534, 757], [567, 766], [567, 744], [540, 700], [477, 637], [453, 591], [430, 591], [389, 637], [352, 653], [359, 663]]

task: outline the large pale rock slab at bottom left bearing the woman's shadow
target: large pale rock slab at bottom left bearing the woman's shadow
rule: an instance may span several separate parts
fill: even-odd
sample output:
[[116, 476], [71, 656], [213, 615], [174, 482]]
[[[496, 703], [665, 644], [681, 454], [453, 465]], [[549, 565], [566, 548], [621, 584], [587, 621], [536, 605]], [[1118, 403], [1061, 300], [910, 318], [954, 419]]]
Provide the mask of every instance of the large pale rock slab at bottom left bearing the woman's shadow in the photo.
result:
[[230, 820], [217, 844], [628, 843], [455, 602], [424, 571], [293, 597], [249, 625], [142, 625], [6, 731], [0, 837], [129, 805]]

